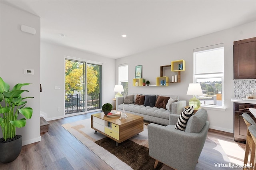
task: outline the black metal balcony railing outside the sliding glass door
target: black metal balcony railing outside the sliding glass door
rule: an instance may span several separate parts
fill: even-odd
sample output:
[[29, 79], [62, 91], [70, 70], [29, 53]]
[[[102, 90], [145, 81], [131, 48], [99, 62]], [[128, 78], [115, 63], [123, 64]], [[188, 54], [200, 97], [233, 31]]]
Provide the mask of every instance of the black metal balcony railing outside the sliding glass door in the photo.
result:
[[87, 111], [100, 109], [100, 93], [87, 94], [86, 101], [84, 95], [66, 95], [65, 114], [84, 112], [85, 107]]

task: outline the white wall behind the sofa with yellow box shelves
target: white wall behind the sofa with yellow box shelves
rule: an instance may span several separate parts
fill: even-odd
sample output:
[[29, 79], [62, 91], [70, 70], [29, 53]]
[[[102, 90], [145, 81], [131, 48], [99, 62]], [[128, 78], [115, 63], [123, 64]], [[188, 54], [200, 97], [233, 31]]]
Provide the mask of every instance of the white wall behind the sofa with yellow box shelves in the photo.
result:
[[[252, 37], [256, 37], [256, 22], [116, 59], [116, 83], [118, 80], [118, 65], [128, 63], [129, 93], [179, 95], [180, 99], [186, 100], [188, 104], [191, 96], [187, 96], [186, 92], [188, 84], [193, 83], [193, 49], [224, 43], [224, 105], [226, 110], [219, 111], [207, 109], [208, 121], [210, 122], [210, 128], [233, 132], [233, 103], [231, 102], [231, 98], [234, 97], [233, 42]], [[179, 59], [184, 59], [186, 61], [186, 71], [181, 72], [181, 83], [169, 83], [168, 87], [132, 86], [136, 65], [142, 65], [142, 77], [149, 80], [150, 84], [155, 85], [156, 77], [160, 76], [160, 66], [170, 65], [171, 61]]]

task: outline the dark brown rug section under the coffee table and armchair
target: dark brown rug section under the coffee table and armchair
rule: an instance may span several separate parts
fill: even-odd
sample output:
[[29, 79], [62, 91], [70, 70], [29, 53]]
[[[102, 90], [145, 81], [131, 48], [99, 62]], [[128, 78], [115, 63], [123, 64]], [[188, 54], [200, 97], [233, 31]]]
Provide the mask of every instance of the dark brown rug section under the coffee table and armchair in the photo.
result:
[[[114, 154], [134, 170], [154, 170], [155, 159], [149, 156], [148, 148], [145, 146], [131, 140], [126, 140], [116, 146], [116, 142], [110, 138], [103, 138], [95, 143]], [[156, 170], [160, 170], [162, 166], [163, 164], [159, 162]]]

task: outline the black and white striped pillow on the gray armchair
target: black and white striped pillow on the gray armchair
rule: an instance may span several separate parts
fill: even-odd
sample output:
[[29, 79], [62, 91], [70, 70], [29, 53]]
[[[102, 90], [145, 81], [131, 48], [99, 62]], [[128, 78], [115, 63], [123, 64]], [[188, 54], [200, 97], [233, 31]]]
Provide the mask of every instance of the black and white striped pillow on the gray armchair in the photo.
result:
[[188, 119], [193, 115], [194, 106], [188, 107], [185, 109], [181, 114], [180, 117], [175, 125], [175, 129], [185, 131]]

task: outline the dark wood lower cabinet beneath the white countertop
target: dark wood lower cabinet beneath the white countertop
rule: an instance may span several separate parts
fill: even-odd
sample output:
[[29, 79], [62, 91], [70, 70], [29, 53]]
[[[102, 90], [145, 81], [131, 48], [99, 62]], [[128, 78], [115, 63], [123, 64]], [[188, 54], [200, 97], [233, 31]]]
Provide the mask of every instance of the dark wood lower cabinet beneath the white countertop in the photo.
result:
[[256, 104], [234, 103], [234, 140], [236, 142], [246, 142], [247, 126], [242, 114], [247, 113], [256, 122], [256, 118], [249, 111], [249, 108], [256, 108]]

